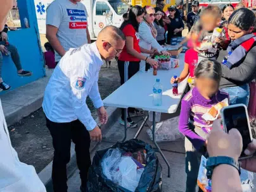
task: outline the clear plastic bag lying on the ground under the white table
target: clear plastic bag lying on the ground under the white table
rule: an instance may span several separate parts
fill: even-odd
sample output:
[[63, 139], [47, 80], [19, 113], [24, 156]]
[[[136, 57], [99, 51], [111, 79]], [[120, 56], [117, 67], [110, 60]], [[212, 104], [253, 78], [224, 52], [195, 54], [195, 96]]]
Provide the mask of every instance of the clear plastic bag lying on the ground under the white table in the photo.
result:
[[[150, 139], [153, 140], [151, 129], [147, 130]], [[179, 116], [161, 121], [156, 124], [155, 140], [159, 142], [175, 141], [179, 138], [184, 139], [184, 136], [179, 132]]]

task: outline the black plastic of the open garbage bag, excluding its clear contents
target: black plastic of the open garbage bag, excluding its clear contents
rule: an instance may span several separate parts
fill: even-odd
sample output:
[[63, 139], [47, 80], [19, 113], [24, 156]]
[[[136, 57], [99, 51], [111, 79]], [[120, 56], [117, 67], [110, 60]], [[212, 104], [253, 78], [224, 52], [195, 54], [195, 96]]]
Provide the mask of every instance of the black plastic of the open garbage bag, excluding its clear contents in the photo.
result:
[[[158, 161], [157, 154], [151, 145], [141, 140], [129, 140], [124, 143], [116, 143], [110, 148], [120, 148], [125, 152], [137, 152], [141, 148], [146, 150], [146, 167], [139, 180], [139, 185], [135, 192], [160, 192], [162, 191], [162, 166]], [[93, 165], [89, 169], [89, 179], [87, 183], [88, 192], [130, 192], [128, 189], [113, 183], [103, 174], [101, 159], [110, 149], [106, 148], [96, 152], [93, 158]]]

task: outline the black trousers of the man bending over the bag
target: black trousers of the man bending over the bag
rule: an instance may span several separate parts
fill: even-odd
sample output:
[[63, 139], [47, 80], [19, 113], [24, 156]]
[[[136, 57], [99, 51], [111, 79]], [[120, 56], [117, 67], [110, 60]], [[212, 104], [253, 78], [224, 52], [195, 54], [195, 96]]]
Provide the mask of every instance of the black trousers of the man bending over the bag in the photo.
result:
[[82, 187], [86, 188], [87, 174], [91, 166], [90, 135], [79, 120], [70, 123], [54, 123], [46, 117], [46, 126], [53, 138], [53, 190], [67, 192], [67, 164], [70, 161], [71, 140], [75, 143], [77, 167]]

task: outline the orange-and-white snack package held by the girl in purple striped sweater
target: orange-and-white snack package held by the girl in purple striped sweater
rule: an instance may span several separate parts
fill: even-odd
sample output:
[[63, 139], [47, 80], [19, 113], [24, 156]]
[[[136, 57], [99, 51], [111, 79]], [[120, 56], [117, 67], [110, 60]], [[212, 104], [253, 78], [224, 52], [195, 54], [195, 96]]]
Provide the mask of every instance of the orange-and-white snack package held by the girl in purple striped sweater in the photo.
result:
[[203, 114], [203, 119], [205, 119], [205, 121], [214, 121], [218, 118], [221, 109], [223, 107], [226, 107], [229, 104], [228, 99], [224, 99], [222, 100], [222, 102], [217, 103], [216, 105], [212, 106], [212, 108], [210, 108], [207, 113]]

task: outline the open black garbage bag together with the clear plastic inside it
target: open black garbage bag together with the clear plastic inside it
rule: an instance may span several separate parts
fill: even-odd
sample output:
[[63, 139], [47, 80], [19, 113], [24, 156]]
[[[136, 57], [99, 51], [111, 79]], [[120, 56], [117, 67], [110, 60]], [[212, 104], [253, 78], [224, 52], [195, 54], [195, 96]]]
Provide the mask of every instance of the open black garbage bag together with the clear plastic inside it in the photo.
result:
[[88, 192], [160, 192], [162, 166], [153, 148], [141, 140], [99, 150], [89, 169]]

